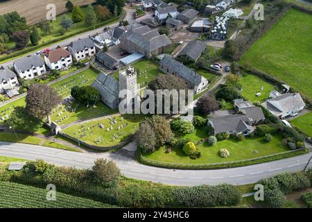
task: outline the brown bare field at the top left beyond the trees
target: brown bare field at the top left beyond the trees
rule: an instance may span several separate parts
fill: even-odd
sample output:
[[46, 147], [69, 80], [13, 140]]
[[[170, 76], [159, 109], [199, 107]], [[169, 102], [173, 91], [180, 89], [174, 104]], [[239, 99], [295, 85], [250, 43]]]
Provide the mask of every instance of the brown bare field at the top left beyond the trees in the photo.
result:
[[[72, 0], [72, 2], [74, 5], [84, 6], [93, 3], [94, 0]], [[0, 3], [0, 15], [17, 11], [19, 15], [26, 17], [28, 24], [34, 24], [46, 17], [46, 12], [48, 12], [46, 6], [49, 3], [55, 4], [57, 15], [67, 11], [65, 0], [10, 0]]]

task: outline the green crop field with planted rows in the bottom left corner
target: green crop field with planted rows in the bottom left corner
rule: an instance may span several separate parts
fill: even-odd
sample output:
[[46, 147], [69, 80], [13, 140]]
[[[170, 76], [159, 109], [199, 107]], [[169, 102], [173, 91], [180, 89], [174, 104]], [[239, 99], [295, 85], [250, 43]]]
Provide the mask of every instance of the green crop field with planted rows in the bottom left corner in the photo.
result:
[[114, 206], [56, 192], [56, 200], [46, 200], [46, 189], [0, 182], [0, 208], [112, 208]]

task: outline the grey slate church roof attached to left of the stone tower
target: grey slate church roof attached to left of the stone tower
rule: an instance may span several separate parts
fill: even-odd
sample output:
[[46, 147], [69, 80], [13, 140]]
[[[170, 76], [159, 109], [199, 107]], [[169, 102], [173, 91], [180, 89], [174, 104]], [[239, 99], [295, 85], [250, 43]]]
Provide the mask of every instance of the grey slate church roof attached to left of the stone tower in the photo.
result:
[[99, 74], [92, 84], [100, 94], [100, 99], [112, 110], [119, 105], [119, 83], [112, 76]]

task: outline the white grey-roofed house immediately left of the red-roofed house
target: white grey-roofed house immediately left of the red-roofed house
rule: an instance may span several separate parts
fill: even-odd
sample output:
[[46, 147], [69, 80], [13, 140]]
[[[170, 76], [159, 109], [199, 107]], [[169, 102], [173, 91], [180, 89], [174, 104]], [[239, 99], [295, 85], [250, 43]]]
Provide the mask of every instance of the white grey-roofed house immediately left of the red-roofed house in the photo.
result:
[[13, 65], [19, 78], [32, 79], [46, 73], [46, 66], [40, 55], [22, 58]]

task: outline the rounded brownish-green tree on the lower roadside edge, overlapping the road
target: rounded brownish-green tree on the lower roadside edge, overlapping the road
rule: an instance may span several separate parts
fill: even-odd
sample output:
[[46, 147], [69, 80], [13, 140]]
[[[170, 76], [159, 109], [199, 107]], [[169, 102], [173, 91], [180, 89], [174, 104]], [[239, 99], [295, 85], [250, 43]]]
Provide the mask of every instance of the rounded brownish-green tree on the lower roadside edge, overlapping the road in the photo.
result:
[[92, 167], [94, 182], [100, 185], [115, 185], [119, 181], [120, 171], [112, 160], [98, 159]]

